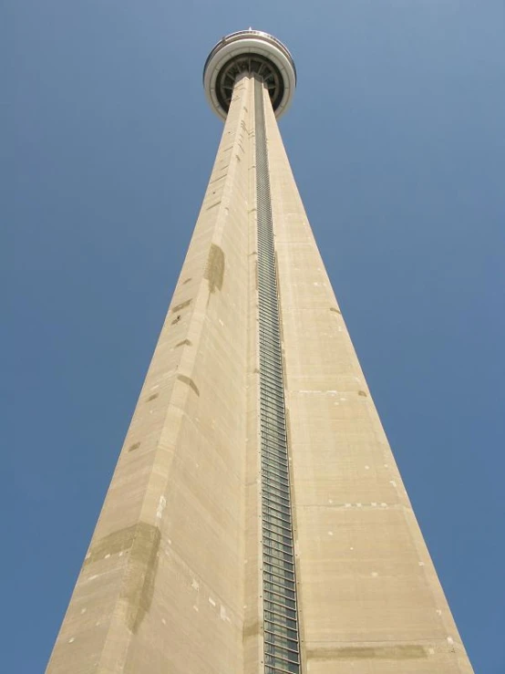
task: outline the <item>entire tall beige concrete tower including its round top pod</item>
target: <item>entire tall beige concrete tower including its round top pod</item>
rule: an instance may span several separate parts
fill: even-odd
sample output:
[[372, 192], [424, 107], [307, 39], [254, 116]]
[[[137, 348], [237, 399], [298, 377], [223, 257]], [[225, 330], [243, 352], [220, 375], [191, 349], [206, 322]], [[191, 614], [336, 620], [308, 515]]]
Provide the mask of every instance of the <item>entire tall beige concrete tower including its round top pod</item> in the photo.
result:
[[47, 672], [469, 674], [296, 189], [294, 61], [211, 50], [224, 130]]

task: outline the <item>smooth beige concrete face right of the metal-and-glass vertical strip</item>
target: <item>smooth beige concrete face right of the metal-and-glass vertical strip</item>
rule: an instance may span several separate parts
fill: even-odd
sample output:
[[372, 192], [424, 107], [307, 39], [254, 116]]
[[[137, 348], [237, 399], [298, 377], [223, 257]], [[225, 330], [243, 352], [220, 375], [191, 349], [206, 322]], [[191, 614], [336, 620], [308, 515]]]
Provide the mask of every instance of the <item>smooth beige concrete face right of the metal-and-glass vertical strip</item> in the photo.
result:
[[304, 662], [311, 674], [469, 674], [265, 109]]

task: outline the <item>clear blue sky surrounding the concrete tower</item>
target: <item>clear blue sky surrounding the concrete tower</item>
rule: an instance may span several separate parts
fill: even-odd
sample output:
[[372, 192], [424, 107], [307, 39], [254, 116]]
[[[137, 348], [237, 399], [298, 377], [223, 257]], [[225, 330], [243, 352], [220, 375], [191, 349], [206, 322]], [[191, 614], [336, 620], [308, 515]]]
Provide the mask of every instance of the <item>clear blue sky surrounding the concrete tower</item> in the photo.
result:
[[315, 237], [476, 673], [504, 674], [503, 0], [0, 4], [3, 671], [45, 668], [220, 139], [201, 69], [248, 26], [294, 54]]

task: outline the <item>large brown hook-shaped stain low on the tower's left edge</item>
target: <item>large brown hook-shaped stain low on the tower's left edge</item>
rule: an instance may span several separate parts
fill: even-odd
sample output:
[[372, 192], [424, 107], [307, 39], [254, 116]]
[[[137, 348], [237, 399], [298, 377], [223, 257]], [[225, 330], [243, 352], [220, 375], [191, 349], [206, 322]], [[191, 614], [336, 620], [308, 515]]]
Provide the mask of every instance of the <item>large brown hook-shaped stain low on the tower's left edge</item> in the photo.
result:
[[139, 522], [98, 540], [91, 546], [84, 562], [86, 567], [110, 555], [129, 552], [119, 599], [126, 603], [126, 623], [133, 633], [139, 629], [152, 602], [160, 537], [157, 526]]

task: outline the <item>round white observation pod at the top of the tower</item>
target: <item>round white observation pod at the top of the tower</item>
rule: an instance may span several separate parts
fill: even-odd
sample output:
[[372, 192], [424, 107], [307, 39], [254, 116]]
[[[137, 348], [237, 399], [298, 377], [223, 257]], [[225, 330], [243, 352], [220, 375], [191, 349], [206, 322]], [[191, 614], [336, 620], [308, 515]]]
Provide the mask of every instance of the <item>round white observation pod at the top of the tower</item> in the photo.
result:
[[203, 67], [203, 88], [211, 109], [226, 119], [233, 87], [242, 72], [263, 77], [277, 119], [290, 107], [296, 68], [289, 50], [276, 37], [260, 30], [239, 30], [212, 48]]

